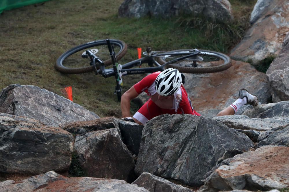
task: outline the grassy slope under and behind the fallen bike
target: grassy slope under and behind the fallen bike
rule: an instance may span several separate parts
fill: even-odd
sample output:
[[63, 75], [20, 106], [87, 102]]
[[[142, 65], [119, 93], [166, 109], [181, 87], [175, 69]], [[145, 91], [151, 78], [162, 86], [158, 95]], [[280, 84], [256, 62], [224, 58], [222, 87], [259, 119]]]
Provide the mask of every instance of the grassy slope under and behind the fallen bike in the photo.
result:
[[[255, 3], [230, 1], [236, 21], [224, 25], [189, 16], [118, 18], [122, 2], [59, 0], [4, 11], [0, 15], [0, 89], [13, 83], [31, 84], [63, 95], [61, 89], [72, 86], [74, 102], [100, 117], [120, 117], [120, 104], [113, 94], [114, 78], [105, 79], [94, 73], [62, 74], [54, 68], [62, 53], [76, 45], [106, 38], [128, 44], [121, 64], [137, 59], [137, 47], [199, 48], [228, 53], [241, 39]], [[125, 76], [123, 91], [144, 76]]]

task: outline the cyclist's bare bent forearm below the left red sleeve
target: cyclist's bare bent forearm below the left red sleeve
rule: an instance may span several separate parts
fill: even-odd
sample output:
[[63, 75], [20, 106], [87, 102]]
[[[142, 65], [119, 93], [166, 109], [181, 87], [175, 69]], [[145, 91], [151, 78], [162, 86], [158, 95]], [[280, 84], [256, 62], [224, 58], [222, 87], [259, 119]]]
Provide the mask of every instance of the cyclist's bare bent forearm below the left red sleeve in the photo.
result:
[[130, 101], [138, 96], [135, 88], [132, 86], [121, 96], [121, 115], [122, 117], [131, 117]]

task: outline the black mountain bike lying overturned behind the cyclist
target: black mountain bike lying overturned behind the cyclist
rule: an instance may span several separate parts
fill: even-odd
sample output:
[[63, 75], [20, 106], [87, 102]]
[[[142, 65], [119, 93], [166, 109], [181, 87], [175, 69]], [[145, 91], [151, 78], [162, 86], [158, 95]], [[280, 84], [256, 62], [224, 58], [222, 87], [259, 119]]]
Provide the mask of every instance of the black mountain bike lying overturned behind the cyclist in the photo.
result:
[[[94, 71], [105, 78], [114, 76], [114, 93], [120, 101], [122, 77], [125, 75], [153, 73], [170, 67], [180, 73], [215, 73], [231, 66], [230, 58], [219, 52], [198, 49], [152, 51], [150, 47], [143, 52], [144, 57], [121, 65], [118, 60], [126, 52], [126, 43], [117, 39], [92, 41], [66, 51], [57, 59], [55, 67], [68, 74]], [[105, 69], [111, 64], [112, 68]], [[143, 67], [144, 64], [147, 67]]]

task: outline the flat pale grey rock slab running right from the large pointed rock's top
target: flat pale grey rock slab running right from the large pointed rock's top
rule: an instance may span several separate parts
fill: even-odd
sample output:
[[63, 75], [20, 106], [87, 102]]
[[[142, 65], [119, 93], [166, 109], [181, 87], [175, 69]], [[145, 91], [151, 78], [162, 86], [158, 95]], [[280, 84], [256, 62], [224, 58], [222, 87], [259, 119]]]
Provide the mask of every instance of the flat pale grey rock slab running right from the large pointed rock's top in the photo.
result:
[[242, 130], [267, 131], [273, 128], [284, 127], [289, 125], [289, 117], [272, 117], [266, 119], [250, 119], [246, 115], [227, 115], [213, 117], [229, 128]]

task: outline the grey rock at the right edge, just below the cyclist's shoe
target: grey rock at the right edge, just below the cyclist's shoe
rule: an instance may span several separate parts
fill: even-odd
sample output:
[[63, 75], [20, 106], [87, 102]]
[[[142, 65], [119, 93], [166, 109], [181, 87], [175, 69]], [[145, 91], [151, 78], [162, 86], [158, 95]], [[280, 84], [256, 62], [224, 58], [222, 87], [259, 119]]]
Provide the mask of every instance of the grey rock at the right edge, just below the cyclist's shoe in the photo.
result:
[[249, 107], [243, 115], [250, 118], [271, 118], [271, 117], [289, 117], [289, 101], [278, 103], [262, 104], [256, 107]]

